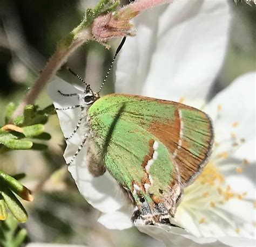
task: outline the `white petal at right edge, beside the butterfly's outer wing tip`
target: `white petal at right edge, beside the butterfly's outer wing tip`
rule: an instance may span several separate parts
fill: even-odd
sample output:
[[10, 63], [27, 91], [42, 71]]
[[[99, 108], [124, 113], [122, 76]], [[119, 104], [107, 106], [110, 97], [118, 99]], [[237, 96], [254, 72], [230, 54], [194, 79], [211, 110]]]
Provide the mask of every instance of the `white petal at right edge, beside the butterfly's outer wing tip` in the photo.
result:
[[[252, 162], [255, 161], [255, 82], [256, 73], [240, 76], [207, 105], [207, 112], [214, 121], [215, 140], [221, 144], [218, 151], [231, 150], [231, 133], [234, 133], [237, 136], [234, 142], [240, 143], [244, 138], [250, 146], [241, 146], [242, 151], [238, 149], [233, 156]], [[218, 105], [221, 105], [219, 111]]]

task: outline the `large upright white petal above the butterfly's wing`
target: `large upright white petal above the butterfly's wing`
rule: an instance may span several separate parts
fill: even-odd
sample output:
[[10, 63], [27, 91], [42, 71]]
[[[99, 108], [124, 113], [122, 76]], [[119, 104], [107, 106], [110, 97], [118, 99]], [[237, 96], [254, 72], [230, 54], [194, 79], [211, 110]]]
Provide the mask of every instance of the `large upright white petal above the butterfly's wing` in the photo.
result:
[[118, 59], [116, 91], [204, 100], [224, 59], [229, 23], [226, 1], [174, 1], [145, 11]]

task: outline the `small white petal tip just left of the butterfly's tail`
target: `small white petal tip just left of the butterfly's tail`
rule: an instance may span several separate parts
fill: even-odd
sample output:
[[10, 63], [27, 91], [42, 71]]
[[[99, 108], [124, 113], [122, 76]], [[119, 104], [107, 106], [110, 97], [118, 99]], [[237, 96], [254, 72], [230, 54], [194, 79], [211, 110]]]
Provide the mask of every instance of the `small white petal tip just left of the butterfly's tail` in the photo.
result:
[[98, 218], [98, 222], [108, 229], [123, 230], [133, 227], [131, 215], [123, 211], [104, 214]]

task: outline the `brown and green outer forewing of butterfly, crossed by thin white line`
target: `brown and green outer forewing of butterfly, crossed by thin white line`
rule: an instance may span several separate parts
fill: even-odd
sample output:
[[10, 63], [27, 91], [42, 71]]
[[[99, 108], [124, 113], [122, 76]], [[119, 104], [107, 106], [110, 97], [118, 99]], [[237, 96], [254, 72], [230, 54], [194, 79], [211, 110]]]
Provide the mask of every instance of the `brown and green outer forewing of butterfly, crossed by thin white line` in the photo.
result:
[[149, 131], [169, 149], [178, 166], [181, 184], [190, 184], [211, 153], [213, 130], [210, 118], [197, 109], [177, 104], [174, 119], [154, 121]]

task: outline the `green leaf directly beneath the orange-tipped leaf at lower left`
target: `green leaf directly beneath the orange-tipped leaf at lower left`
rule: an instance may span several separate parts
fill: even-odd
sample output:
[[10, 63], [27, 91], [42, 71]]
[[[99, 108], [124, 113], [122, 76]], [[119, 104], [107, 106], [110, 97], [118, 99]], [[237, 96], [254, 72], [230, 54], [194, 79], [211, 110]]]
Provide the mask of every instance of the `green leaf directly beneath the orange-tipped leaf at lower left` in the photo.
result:
[[1, 194], [7, 207], [10, 209], [11, 213], [14, 215], [17, 221], [26, 222], [28, 220], [28, 214], [14, 193], [12, 193], [8, 188], [3, 188]]

